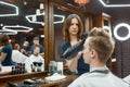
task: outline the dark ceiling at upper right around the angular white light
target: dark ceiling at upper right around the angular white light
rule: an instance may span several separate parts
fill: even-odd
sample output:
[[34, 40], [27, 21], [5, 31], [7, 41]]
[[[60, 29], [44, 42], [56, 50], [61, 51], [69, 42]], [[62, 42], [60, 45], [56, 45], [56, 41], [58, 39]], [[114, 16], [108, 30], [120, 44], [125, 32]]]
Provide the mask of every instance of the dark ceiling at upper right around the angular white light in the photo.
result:
[[[75, 3], [74, 0], [64, 1], [80, 7], [79, 4]], [[108, 5], [130, 4], [130, 0], [103, 0], [103, 1]], [[93, 14], [101, 14], [102, 12], [108, 13], [109, 15], [112, 15], [113, 26], [121, 22], [130, 23], [130, 7], [105, 8], [103, 7], [103, 4], [101, 4], [99, 0], [90, 0], [89, 3], [81, 8], [83, 8], [86, 12], [90, 12]]]

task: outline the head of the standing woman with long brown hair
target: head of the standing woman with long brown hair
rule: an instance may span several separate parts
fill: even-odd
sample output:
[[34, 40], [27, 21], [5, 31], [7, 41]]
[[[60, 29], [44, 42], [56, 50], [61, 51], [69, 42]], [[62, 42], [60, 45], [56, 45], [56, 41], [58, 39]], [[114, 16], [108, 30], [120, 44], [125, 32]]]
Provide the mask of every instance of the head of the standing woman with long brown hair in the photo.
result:
[[[82, 37], [82, 33], [83, 33], [83, 24], [81, 18], [79, 17], [79, 15], [77, 14], [70, 14], [67, 16], [64, 26], [63, 26], [63, 35], [64, 35], [64, 40], [65, 41], [70, 41], [70, 32], [73, 30], [73, 33], [77, 34], [77, 38], [80, 39]], [[78, 33], [77, 33], [78, 32]]]

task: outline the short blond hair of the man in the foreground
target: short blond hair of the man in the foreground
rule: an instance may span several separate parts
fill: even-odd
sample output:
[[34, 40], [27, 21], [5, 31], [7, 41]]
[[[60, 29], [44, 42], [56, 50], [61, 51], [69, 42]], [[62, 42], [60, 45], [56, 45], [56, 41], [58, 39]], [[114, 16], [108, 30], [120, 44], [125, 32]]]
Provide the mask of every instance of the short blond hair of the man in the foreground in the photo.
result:
[[94, 27], [89, 34], [89, 49], [94, 49], [99, 54], [99, 60], [106, 62], [112, 55], [115, 41], [103, 28]]

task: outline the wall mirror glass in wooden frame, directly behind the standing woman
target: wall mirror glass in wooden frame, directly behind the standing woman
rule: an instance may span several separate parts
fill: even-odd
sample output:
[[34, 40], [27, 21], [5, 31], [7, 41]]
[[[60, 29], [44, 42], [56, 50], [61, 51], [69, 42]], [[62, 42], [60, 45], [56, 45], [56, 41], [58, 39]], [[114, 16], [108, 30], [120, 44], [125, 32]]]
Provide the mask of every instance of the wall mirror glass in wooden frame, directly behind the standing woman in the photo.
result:
[[[60, 5], [60, 4], [54, 4], [54, 22], [60, 22], [54, 24], [54, 52], [55, 52], [55, 61], [64, 61], [64, 58], [62, 58], [62, 50], [61, 50], [61, 45], [64, 42], [63, 40], [63, 25], [66, 20], [66, 17], [69, 14], [77, 14], [81, 17], [84, 32], [87, 32], [87, 27], [89, 27], [89, 18], [86, 17], [82, 13], [77, 12], [75, 8], [69, 8]], [[87, 24], [86, 24], [87, 23]]]

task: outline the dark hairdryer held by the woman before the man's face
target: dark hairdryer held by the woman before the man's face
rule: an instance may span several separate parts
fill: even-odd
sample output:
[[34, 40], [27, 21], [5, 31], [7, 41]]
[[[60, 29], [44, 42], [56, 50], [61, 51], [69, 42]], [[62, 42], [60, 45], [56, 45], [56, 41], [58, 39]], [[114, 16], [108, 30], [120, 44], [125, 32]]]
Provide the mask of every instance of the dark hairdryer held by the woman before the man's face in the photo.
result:
[[79, 51], [81, 51], [83, 49], [83, 44], [84, 44], [86, 39], [82, 39], [80, 42], [74, 45], [73, 47], [68, 48], [64, 53], [63, 53], [63, 58], [70, 60], [74, 57], [77, 55], [77, 53]]

